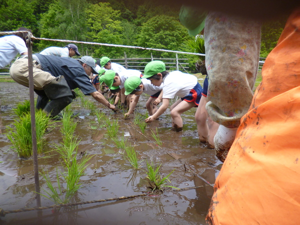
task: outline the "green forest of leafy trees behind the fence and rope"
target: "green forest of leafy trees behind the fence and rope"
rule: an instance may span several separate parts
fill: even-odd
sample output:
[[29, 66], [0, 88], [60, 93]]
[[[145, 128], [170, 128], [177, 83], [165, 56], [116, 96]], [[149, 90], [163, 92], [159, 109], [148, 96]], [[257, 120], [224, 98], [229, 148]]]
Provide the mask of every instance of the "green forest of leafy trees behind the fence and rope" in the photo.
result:
[[[98, 43], [134, 45], [193, 52], [194, 41], [180, 23], [180, 5], [164, 5], [161, 0], [0, 0], [0, 31], [30, 28], [35, 37]], [[260, 57], [276, 45], [287, 16], [263, 23]], [[34, 40], [33, 52], [66, 43]], [[77, 44], [82, 55], [174, 58], [175, 54], [134, 48]], [[188, 57], [191, 61], [197, 56]], [[190, 63], [194, 66], [194, 63]], [[193, 68], [191, 68], [193, 69]]]

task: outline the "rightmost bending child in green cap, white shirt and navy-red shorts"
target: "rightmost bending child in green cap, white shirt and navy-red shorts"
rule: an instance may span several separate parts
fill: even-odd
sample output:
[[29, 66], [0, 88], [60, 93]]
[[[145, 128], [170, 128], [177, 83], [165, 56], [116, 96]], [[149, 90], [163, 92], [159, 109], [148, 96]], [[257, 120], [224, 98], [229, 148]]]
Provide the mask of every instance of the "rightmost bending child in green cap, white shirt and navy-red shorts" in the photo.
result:
[[145, 122], [152, 122], [160, 116], [168, 107], [169, 99], [175, 96], [180, 97], [170, 106], [172, 127], [176, 131], [181, 131], [183, 122], [181, 114], [199, 104], [202, 87], [198, 83], [196, 76], [183, 73], [181, 71], [165, 70], [165, 64], [162, 61], [154, 60], [146, 64], [143, 78], [147, 78], [155, 86], [162, 87], [162, 105], [158, 110], [145, 119]]

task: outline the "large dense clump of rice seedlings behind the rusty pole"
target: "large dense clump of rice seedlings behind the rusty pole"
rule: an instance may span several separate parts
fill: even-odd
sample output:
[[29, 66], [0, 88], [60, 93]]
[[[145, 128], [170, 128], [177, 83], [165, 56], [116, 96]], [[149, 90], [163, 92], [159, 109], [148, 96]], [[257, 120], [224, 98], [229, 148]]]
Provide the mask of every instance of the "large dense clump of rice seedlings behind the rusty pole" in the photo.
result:
[[[52, 124], [49, 116], [42, 110], [35, 112], [35, 129], [37, 153], [42, 154], [44, 145], [44, 134], [47, 127]], [[12, 143], [12, 148], [20, 157], [27, 158], [32, 155], [32, 139], [31, 139], [31, 117], [30, 113], [25, 113], [20, 118], [15, 119], [12, 126], [6, 126], [8, 132], [7, 138]]]

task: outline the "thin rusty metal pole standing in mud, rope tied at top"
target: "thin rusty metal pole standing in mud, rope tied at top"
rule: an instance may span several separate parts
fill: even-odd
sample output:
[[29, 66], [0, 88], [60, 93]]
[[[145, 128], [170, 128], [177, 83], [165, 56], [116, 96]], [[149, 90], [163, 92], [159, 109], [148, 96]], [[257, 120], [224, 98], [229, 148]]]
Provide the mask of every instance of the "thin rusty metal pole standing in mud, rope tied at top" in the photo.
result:
[[40, 189], [39, 189], [39, 178], [38, 178], [34, 91], [33, 91], [34, 85], [33, 85], [33, 68], [32, 68], [32, 45], [31, 45], [30, 32], [28, 32], [27, 46], [28, 46], [29, 100], [30, 100], [30, 115], [31, 115], [31, 139], [32, 139], [34, 183], [35, 183], [35, 192], [36, 192], [36, 205], [37, 207], [40, 207], [40, 194], [39, 194]]

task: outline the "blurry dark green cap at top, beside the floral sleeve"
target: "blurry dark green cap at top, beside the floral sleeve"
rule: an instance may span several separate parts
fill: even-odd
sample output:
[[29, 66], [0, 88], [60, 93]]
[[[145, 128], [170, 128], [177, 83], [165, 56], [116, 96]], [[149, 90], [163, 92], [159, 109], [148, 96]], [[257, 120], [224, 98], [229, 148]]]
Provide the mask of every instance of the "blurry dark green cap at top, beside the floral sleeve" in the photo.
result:
[[206, 15], [207, 11], [201, 8], [182, 5], [179, 20], [187, 28], [189, 35], [196, 36], [204, 28]]

